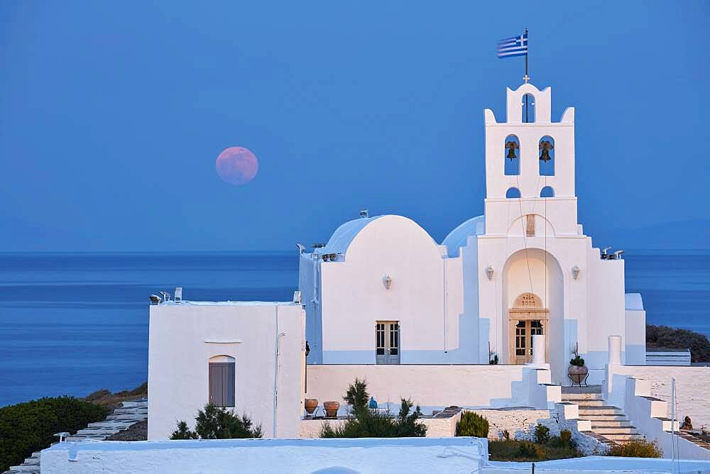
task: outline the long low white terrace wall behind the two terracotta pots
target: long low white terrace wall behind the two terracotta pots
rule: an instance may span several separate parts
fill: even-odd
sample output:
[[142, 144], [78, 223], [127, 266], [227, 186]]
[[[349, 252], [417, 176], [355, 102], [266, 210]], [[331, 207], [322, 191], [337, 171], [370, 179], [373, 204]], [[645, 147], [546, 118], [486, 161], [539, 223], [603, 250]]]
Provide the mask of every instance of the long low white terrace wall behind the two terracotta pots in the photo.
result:
[[398, 409], [401, 398], [412, 399], [425, 414], [451, 405], [530, 407], [537, 372], [525, 365], [309, 365], [306, 397], [321, 405], [340, 402], [345, 414], [343, 397], [357, 377], [383, 408], [389, 402]]

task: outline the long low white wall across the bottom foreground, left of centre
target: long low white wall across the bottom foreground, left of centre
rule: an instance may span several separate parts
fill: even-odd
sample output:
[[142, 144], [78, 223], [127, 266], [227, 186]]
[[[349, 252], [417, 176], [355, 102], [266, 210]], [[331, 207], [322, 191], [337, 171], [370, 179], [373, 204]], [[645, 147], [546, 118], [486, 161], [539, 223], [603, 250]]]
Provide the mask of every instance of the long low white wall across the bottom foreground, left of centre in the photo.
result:
[[213, 439], [58, 443], [43, 473], [470, 473], [488, 459], [480, 438]]

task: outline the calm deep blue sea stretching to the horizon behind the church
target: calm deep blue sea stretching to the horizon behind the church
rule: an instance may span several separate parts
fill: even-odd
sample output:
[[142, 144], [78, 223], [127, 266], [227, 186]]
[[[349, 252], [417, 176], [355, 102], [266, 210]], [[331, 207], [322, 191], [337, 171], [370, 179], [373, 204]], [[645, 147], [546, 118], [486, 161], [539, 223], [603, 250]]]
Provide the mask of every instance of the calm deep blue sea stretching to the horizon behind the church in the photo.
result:
[[[710, 250], [628, 250], [650, 324], [710, 337]], [[294, 252], [0, 253], [0, 407], [148, 378], [148, 296], [290, 301]]]

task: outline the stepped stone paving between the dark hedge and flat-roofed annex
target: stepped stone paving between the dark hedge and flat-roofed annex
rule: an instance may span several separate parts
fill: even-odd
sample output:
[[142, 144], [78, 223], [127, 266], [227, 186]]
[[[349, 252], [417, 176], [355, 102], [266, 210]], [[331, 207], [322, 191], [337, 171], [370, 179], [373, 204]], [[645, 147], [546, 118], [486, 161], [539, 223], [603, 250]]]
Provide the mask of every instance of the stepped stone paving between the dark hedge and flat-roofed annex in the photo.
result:
[[[89, 423], [89, 425], [67, 436], [65, 441], [86, 441], [107, 439], [112, 434], [128, 429], [129, 426], [148, 419], [148, 399], [138, 399], [133, 402], [123, 402], [104, 421]], [[4, 474], [38, 474], [40, 472], [40, 452], [35, 451], [21, 465], [13, 465]]]

